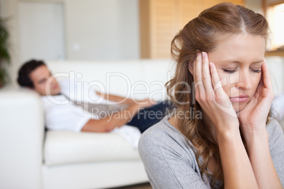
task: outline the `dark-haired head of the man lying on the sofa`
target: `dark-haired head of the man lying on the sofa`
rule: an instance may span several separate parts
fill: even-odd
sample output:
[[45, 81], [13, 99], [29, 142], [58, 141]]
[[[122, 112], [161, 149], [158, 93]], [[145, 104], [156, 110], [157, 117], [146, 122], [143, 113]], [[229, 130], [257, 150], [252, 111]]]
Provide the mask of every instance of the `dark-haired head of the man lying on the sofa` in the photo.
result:
[[57, 95], [60, 87], [43, 61], [31, 60], [18, 71], [18, 84], [29, 87], [40, 95]]

